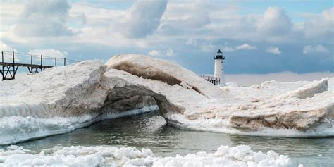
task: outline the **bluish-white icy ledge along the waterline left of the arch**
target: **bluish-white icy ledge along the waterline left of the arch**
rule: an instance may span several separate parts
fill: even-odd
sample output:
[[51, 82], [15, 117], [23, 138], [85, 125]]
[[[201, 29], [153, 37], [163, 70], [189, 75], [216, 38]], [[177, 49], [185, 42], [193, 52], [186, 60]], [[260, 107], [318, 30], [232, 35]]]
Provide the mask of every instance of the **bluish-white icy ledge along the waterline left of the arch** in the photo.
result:
[[78, 117], [33, 118], [31, 116], [9, 116], [0, 118], [0, 144], [13, 144], [38, 139], [49, 135], [58, 135], [78, 128], [84, 128], [101, 120], [134, 116], [140, 113], [158, 110], [158, 106], [144, 106], [122, 113], [87, 114]]

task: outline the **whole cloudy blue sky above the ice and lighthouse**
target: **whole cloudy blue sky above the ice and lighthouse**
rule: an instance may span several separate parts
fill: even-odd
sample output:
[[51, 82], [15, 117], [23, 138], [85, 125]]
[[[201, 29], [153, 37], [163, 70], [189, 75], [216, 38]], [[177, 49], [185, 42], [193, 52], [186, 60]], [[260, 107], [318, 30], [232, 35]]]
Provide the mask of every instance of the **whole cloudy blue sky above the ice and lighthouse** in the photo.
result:
[[[199, 74], [334, 72], [333, 1], [0, 0], [2, 51], [163, 58]], [[24, 58], [19, 58], [25, 61]]]

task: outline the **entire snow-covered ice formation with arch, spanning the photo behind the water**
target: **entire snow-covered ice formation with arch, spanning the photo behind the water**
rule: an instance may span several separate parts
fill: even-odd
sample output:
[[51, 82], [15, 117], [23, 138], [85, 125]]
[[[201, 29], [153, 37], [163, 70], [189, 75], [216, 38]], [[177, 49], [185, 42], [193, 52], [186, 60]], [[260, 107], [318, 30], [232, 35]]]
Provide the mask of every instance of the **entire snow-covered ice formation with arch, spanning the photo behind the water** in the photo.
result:
[[169, 125], [187, 130], [334, 135], [333, 78], [219, 88], [178, 64], [130, 54], [105, 64], [83, 61], [50, 68], [0, 85], [0, 144], [158, 107]]

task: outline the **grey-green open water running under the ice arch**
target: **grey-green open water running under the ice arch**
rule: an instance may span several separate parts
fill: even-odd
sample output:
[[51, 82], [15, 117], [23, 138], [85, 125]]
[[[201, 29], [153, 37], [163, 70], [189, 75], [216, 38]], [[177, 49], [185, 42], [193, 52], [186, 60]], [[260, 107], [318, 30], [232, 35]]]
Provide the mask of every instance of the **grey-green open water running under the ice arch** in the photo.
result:
[[[289, 155], [294, 166], [331, 166], [334, 164], [334, 137], [280, 138], [230, 135], [214, 132], [180, 130], [166, 125], [159, 111], [139, 116], [116, 118], [94, 123], [63, 135], [17, 144], [25, 149], [41, 151], [54, 146], [113, 145], [149, 148], [156, 156], [185, 155], [199, 151], [214, 152], [220, 145], [247, 144], [254, 151], [276, 151]], [[5, 146], [0, 147], [0, 149]]]

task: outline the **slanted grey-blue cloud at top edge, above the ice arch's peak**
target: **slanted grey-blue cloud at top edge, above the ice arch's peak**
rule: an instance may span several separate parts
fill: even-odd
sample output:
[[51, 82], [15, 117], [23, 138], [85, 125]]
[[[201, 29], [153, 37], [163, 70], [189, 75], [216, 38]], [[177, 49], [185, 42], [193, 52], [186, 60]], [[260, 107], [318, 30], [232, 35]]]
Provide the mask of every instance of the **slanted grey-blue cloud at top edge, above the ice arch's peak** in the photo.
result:
[[151, 35], [160, 25], [167, 1], [135, 1], [121, 26], [123, 34], [130, 38]]

